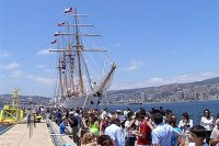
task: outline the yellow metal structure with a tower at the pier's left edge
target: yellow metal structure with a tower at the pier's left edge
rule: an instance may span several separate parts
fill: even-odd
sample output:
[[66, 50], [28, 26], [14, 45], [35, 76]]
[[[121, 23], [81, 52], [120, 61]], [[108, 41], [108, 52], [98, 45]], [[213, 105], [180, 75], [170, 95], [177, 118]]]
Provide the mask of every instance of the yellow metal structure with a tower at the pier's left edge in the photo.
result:
[[0, 123], [18, 123], [24, 119], [24, 111], [19, 108], [19, 90], [14, 89], [12, 106], [4, 105], [0, 112]]

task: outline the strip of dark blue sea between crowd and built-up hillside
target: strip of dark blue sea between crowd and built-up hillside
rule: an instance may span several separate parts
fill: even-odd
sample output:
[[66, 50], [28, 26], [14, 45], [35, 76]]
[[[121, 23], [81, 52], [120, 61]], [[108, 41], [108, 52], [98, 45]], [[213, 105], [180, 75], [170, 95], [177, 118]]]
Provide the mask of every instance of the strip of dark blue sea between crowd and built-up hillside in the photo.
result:
[[205, 109], [210, 110], [211, 116], [216, 116], [219, 113], [219, 100], [211, 101], [186, 101], [186, 102], [158, 102], [158, 103], [146, 103], [146, 104], [124, 104], [124, 105], [100, 105], [99, 109], [108, 108], [110, 111], [115, 110], [126, 110], [126, 108], [137, 111], [140, 108], [143, 108], [146, 111], [150, 111], [152, 108], [163, 110], [172, 110], [176, 116], [177, 122], [182, 119], [182, 113], [187, 112], [191, 119], [194, 121], [194, 124], [199, 124], [203, 116], [203, 111]]

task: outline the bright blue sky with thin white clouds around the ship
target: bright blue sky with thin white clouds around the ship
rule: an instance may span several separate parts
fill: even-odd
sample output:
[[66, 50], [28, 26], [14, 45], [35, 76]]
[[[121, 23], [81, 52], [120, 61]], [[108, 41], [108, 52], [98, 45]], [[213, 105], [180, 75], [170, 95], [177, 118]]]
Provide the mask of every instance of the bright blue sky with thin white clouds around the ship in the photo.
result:
[[69, 7], [89, 14], [117, 65], [110, 90], [219, 77], [218, 0], [1, 0], [0, 94], [53, 97], [46, 50]]

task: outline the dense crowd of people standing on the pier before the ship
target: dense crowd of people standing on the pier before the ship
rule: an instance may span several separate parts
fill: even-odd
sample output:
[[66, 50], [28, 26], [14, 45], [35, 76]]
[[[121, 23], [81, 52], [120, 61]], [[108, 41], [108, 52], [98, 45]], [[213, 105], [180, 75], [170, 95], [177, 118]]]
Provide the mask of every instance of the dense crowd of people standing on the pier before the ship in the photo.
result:
[[47, 113], [60, 134], [71, 127], [70, 137], [79, 146], [219, 146], [219, 115], [211, 116], [208, 109], [198, 125], [187, 112], [176, 120], [173, 111], [162, 108], [113, 112], [107, 108], [53, 108]]

